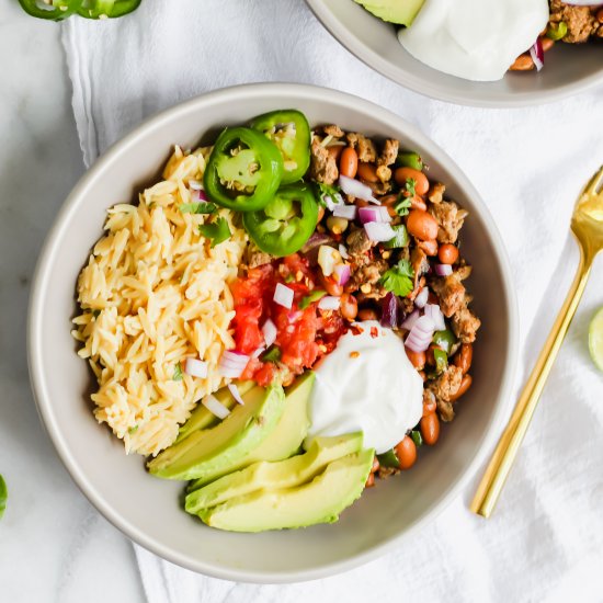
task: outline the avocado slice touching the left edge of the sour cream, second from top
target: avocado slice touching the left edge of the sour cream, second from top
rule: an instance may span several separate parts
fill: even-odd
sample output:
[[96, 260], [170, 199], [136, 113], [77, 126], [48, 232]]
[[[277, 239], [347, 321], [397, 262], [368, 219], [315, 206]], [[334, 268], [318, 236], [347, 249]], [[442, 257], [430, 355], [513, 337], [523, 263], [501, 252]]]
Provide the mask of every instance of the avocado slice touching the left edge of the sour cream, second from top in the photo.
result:
[[308, 433], [310, 420], [308, 417], [308, 401], [314, 387], [316, 374], [307, 371], [293, 385], [285, 389], [285, 410], [274, 431], [249, 455], [223, 474], [204, 476], [189, 486], [189, 491], [201, 488], [211, 479], [221, 477], [235, 469], [248, 467], [260, 460], [282, 460], [295, 454], [304, 437]]

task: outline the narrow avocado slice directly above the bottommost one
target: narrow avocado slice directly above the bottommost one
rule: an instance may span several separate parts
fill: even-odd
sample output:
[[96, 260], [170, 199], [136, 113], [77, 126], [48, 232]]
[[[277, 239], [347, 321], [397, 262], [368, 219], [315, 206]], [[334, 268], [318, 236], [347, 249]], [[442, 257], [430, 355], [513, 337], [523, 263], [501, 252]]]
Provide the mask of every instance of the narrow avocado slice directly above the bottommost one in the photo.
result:
[[186, 497], [184, 508], [195, 515], [206, 507], [215, 507], [257, 490], [300, 486], [323, 471], [332, 460], [356, 453], [361, 448], [362, 432], [334, 437], [318, 436], [312, 440], [310, 448], [305, 454], [275, 463], [254, 463], [191, 492]]

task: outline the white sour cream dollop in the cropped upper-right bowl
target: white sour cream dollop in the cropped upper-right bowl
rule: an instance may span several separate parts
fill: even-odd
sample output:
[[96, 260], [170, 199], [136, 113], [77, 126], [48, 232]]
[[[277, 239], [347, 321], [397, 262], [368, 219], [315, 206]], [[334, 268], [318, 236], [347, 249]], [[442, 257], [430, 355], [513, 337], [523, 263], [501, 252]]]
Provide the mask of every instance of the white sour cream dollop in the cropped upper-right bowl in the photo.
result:
[[467, 80], [500, 80], [548, 23], [548, 0], [425, 0], [398, 39], [418, 60]]

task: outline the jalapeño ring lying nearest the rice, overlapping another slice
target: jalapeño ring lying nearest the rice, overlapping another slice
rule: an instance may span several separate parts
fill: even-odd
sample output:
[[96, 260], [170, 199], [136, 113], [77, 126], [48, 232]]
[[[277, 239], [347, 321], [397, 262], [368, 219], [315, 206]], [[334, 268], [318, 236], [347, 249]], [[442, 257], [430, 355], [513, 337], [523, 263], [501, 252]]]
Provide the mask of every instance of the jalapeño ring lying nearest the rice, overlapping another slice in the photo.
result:
[[209, 198], [237, 212], [257, 212], [272, 200], [283, 178], [283, 158], [259, 132], [226, 128], [207, 161], [203, 184]]

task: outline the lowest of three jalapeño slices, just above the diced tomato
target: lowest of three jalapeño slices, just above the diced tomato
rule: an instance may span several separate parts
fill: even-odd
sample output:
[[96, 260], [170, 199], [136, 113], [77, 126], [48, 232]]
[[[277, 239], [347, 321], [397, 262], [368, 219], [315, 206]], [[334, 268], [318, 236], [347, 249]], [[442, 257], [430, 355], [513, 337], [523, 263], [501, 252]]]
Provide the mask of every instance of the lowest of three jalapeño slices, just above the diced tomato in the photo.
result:
[[243, 215], [243, 226], [251, 240], [276, 258], [302, 249], [317, 223], [318, 203], [312, 189], [303, 182], [278, 189], [263, 209]]

